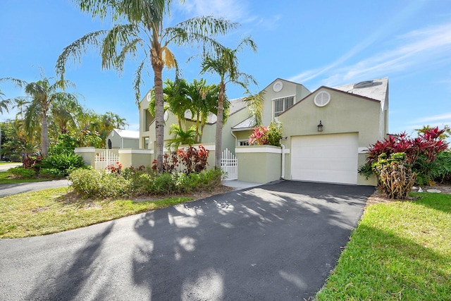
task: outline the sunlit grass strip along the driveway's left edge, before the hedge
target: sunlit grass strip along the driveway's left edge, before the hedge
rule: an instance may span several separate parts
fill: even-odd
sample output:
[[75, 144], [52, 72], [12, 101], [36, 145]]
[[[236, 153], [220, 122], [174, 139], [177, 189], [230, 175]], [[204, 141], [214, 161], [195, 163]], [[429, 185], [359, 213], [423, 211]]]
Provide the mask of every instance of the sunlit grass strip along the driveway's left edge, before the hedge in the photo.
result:
[[68, 188], [51, 188], [0, 198], [0, 238], [67, 231], [192, 199], [175, 197], [142, 202], [130, 199], [87, 200], [70, 198], [67, 192]]

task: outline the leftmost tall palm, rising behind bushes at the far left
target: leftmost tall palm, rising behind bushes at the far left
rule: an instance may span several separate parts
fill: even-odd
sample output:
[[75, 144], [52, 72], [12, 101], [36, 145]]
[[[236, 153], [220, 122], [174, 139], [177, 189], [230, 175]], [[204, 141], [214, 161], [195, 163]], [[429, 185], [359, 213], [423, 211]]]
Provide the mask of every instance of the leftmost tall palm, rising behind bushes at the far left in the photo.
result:
[[37, 82], [26, 82], [17, 78], [2, 78], [0, 80], [7, 80], [12, 82], [16, 87], [23, 88], [25, 94], [30, 98], [30, 104], [25, 109], [25, 130], [27, 133], [32, 133], [39, 128], [41, 131], [41, 154], [47, 156], [49, 152], [49, 124], [48, 116], [50, 105], [58, 99], [76, 100], [74, 94], [60, 91], [68, 85], [73, 85], [68, 80], [56, 80], [53, 84], [50, 83], [49, 78], [44, 74], [42, 79]]

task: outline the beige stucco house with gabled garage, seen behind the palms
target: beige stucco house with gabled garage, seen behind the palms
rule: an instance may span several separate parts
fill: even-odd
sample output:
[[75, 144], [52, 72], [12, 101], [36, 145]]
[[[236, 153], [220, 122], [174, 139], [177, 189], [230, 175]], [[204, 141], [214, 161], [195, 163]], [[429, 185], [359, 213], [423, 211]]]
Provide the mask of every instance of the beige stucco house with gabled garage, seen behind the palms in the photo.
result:
[[[323, 86], [314, 92], [278, 78], [264, 88], [264, 97], [263, 125], [271, 121], [282, 123], [284, 136], [281, 141], [285, 148], [284, 166], [269, 168], [273, 178], [376, 185], [374, 179], [368, 181], [359, 176], [357, 169], [365, 162], [365, 149], [388, 133], [388, 78], [340, 87]], [[155, 143], [149, 100], [147, 94], [140, 102], [140, 148], [144, 149], [154, 149]], [[256, 125], [254, 117], [249, 115], [243, 98], [232, 99], [230, 103], [229, 117], [223, 126], [223, 149], [252, 156], [252, 147], [244, 148], [249, 145], [249, 135]], [[193, 124], [189, 115], [185, 115], [188, 126]], [[166, 145], [169, 126], [177, 123], [177, 118], [168, 112], [164, 120]], [[202, 144], [212, 145], [213, 150], [215, 127], [216, 116], [211, 116], [202, 137]], [[238, 164], [249, 164], [251, 160], [242, 161]], [[252, 180], [253, 168], [239, 171], [242, 171], [241, 176], [238, 173], [239, 180]]]

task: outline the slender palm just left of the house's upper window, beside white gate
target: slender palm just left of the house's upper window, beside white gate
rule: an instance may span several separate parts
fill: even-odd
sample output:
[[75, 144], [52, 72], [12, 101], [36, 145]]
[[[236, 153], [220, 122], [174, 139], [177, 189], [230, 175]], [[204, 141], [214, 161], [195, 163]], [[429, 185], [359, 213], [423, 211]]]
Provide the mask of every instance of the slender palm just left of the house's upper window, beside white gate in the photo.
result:
[[219, 96], [218, 96], [218, 113], [216, 121], [216, 140], [215, 140], [215, 168], [221, 168], [221, 150], [223, 137], [223, 111], [224, 100], [226, 99], [226, 84], [233, 83], [243, 87], [246, 92], [249, 90], [247, 86], [249, 82], [257, 85], [252, 75], [241, 73], [238, 69], [237, 52], [244, 49], [245, 46], [250, 47], [253, 51], [257, 51], [257, 45], [250, 37], [241, 40], [235, 49], [223, 47], [218, 49], [214, 56], [207, 54], [202, 59], [201, 73], [213, 73], [219, 75]]

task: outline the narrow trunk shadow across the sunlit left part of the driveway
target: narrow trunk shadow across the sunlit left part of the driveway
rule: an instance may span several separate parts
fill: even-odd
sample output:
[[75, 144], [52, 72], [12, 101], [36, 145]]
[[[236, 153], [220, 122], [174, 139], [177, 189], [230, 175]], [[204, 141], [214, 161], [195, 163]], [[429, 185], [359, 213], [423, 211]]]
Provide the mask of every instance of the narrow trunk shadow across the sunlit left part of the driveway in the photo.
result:
[[92, 281], [95, 269], [94, 261], [99, 257], [105, 238], [111, 233], [114, 222], [111, 222], [104, 231], [95, 235], [89, 243], [75, 252], [73, 257], [66, 260], [66, 264], [47, 266], [47, 271], [42, 271], [50, 278], [36, 284], [26, 300], [74, 300], [82, 291], [87, 281]]

